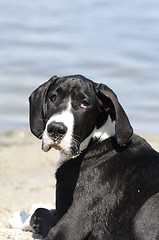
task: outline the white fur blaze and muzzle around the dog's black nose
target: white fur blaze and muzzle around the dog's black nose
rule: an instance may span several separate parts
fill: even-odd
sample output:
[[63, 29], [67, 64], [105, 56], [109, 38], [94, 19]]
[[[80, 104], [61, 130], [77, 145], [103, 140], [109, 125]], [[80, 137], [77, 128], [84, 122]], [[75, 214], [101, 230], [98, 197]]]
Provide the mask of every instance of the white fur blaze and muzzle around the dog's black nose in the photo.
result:
[[66, 110], [63, 110], [61, 113], [54, 114], [47, 122], [45, 131], [42, 136], [43, 141], [43, 150], [48, 151], [53, 145], [53, 140], [49, 137], [47, 132], [47, 127], [51, 122], [62, 122], [67, 127], [67, 132], [61, 142], [58, 144], [58, 147], [62, 152], [69, 154], [69, 150], [71, 148], [72, 143], [72, 134], [74, 127], [74, 117], [71, 112], [71, 101], [69, 100], [68, 106]]

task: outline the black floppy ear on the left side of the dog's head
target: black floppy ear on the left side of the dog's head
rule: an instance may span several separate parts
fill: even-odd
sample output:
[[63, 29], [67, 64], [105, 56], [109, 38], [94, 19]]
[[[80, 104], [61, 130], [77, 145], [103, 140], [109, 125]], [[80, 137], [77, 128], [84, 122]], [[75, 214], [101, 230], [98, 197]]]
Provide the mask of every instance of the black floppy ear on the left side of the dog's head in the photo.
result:
[[47, 82], [39, 86], [29, 97], [30, 103], [30, 129], [37, 137], [42, 137], [45, 129], [46, 95], [49, 87], [55, 83], [57, 77], [50, 78]]

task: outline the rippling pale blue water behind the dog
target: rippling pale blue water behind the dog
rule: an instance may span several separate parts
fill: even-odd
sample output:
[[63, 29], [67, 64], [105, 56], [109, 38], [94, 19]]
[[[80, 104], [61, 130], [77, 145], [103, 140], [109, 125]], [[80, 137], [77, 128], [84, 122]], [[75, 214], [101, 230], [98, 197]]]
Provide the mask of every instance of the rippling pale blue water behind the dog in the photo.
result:
[[159, 133], [158, 0], [0, 0], [0, 130], [28, 128], [52, 75], [111, 87], [137, 133]]

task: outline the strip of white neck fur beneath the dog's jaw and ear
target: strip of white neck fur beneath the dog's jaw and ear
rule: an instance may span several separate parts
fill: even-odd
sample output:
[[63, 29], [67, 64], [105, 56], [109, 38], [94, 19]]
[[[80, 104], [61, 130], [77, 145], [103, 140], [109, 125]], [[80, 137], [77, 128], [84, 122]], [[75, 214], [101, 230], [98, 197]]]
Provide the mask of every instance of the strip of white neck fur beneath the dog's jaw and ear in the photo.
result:
[[95, 127], [91, 134], [83, 142], [81, 142], [78, 155], [69, 157], [63, 152], [60, 153], [60, 158], [57, 161], [56, 169], [58, 169], [64, 162], [78, 157], [81, 152], [88, 147], [91, 140], [102, 142], [113, 136], [115, 136], [115, 121], [112, 121], [110, 116], [108, 116], [108, 119], [104, 125], [98, 129]]

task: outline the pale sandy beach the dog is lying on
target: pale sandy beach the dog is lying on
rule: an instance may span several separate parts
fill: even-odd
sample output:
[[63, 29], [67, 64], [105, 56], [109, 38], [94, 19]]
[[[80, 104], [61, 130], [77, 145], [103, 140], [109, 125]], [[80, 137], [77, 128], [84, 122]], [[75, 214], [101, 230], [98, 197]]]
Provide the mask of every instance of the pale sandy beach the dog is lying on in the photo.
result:
[[[159, 151], [159, 136], [144, 136]], [[42, 239], [7, 227], [14, 212], [29, 212], [33, 203], [55, 203], [58, 152], [44, 153], [29, 131], [0, 133], [0, 240]]]

